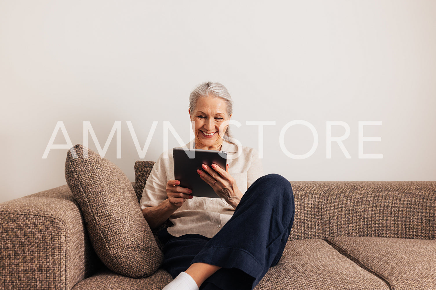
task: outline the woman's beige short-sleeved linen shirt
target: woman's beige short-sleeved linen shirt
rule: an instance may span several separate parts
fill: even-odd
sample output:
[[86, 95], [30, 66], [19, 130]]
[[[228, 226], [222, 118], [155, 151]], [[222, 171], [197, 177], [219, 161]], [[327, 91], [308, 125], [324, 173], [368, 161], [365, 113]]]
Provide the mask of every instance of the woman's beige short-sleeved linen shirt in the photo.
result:
[[[193, 148], [193, 141], [185, 146]], [[221, 150], [227, 151], [228, 172], [235, 178], [239, 190], [245, 193], [247, 188], [263, 175], [262, 163], [257, 150], [237, 146], [225, 140], [223, 140]], [[232, 159], [233, 157], [236, 158]], [[155, 207], [167, 199], [165, 189], [170, 179], [174, 179], [172, 149], [160, 154], [154, 164], [140, 200], [141, 210], [146, 207]], [[168, 233], [175, 237], [197, 233], [211, 238], [230, 220], [234, 212], [233, 207], [224, 199], [194, 197], [186, 200], [170, 216], [169, 219], [174, 225], [168, 228]]]

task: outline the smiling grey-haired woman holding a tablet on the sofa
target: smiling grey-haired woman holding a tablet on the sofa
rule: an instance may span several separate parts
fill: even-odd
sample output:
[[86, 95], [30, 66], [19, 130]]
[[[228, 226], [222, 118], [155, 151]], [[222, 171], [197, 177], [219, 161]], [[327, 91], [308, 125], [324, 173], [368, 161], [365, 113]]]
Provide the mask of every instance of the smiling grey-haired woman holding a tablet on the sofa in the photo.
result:
[[278, 174], [262, 176], [256, 150], [231, 142], [232, 99], [221, 83], [201, 83], [189, 103], [195, 140], [186, 146], [227, 151], [228, 164], [197, 170], [221, 198], [195, 197], [180, 187], [172, 150], [154, 164], [140, 206], [150, 228], [168, 218], [173, 223], [159, 233], [163, 267], [175, 278], [164, 290], [253, 289], [278, 263], [288, 240], [291, 185]]

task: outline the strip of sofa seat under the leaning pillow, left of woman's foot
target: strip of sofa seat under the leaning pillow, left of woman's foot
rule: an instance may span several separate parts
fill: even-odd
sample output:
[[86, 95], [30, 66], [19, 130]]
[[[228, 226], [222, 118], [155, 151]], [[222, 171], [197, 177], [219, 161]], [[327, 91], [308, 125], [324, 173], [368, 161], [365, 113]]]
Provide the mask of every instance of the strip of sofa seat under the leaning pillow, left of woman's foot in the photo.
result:
[[153, 275], [140, 279], [119, 276], [105, 269], [77, 283], [72, 290], [161, 290], [172, 280], [171, 275], [162, 268]]

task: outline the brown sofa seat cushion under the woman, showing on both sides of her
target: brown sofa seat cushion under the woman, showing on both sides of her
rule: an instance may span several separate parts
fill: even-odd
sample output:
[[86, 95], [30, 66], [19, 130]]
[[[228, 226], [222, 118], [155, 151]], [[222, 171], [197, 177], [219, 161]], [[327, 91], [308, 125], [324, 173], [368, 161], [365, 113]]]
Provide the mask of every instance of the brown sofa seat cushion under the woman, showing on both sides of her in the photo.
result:
[[[85, 279], [73, 290], [162, 289], [172, 280], [159, 269], [150, 277], [131, 279], [104, 270]], [[279, 263], [269, 269], [255, 290], [353, 289], [388, 290], [378, 277], [338, 253], [323, 240], [298, 240], [286, 244]]]

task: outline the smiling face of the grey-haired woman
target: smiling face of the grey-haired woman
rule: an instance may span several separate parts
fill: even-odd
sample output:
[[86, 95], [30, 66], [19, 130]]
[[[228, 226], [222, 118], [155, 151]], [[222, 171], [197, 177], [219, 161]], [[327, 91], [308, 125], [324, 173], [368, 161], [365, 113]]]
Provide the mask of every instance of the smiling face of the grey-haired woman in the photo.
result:
[[201, 97], [197, 106], [191, 114], [188, 110], [191, 121], [194, 121], [193, 130], [195, 133], [195, 147], [198, 149], [219, 150], [222, 144], [222, 137], [219, 134], [222, 126], [222, 134], [227, 129], [227, 122], [230, 116], [227, 115], [225, 101], [217, 97]]

